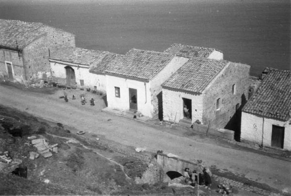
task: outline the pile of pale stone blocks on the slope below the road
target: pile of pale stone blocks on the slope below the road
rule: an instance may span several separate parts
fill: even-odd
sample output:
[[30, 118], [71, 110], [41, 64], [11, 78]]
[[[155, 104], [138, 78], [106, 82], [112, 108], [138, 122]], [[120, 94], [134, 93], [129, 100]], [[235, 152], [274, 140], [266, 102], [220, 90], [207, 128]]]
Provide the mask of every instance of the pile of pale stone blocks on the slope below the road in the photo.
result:
[[51, 152], [58, 153], [58, 144], [49, 145], [46, 138], [36, 139], [35, 136], [28, 137], [28, 139], [32, 139], [32, 145], [37, 148], [37, 152], [30, 152], [29, 158], [34, 160], [38, 158], [39, 154], [41, 154], [44, 158], [49, 158], [52, 156]]

